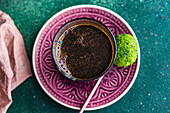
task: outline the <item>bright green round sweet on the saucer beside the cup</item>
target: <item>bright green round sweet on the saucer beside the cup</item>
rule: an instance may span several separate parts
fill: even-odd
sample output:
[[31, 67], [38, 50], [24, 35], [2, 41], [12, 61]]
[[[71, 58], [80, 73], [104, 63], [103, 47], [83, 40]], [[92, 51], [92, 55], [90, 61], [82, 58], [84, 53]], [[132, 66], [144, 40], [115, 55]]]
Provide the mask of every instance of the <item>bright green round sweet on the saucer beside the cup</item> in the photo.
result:
[[115, 65], [125, 67], [133, 64], [138, 55], [137, 41], [129, 34], [116, 35], [117, 56]]

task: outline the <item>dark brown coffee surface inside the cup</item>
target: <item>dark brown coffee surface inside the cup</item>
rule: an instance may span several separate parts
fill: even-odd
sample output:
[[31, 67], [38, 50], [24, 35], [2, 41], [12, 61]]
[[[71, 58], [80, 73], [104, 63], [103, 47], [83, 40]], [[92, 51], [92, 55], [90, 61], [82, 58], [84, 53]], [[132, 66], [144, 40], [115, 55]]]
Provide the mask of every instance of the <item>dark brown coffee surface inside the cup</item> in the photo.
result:
[[111, 62], [112, 46], [100, 29], [81, 25], [65, 33], [61, 56], [75, 78], [88, 79], [100, 75]]

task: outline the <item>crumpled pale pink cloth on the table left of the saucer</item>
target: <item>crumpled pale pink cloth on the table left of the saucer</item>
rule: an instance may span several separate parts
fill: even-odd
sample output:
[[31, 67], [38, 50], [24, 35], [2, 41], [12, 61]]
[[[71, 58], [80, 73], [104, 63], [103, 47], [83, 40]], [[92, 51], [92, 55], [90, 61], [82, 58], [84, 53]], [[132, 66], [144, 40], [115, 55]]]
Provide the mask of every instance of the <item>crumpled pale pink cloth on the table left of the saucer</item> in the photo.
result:
[[0, 10], [0, 113], [12, 103], [11, 91], [31, 75], [23, 37], [13, 20]]

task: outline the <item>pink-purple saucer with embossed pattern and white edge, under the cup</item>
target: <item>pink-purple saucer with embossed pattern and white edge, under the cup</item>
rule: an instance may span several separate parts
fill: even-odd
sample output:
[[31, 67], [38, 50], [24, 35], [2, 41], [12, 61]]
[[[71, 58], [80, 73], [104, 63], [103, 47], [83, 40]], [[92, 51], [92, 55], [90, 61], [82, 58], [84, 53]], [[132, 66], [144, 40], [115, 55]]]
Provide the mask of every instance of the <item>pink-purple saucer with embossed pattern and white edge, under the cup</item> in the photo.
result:
[[[96, 81], [78, 82], [63, 76], [52, 57], [52, 42], [58, 29], [76, 18], [92, 18], [105, 24], [114, 35], [135, 34], [128, 23], [111, 10], [94, 5], [73, 6], [51, 17], [40, 30], [33, 49], [33, 68], [43, 90], [58, 103], [80, 109]], [[86, 110], [96, 110], [113, 104], [123, 97], [134, 83], [140, 65], [138, 58], [131, 66], [113, 65], [102, 79]]]

